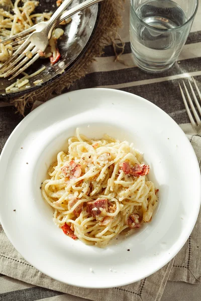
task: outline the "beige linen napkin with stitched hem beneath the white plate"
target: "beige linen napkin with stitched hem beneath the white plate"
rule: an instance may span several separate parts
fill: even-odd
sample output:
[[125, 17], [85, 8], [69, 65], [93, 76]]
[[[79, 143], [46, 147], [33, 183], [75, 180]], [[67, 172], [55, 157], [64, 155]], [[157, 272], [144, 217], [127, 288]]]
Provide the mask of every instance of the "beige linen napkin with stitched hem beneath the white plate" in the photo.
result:
[[[34, 107], [40, 105], [36, 102]], [[201, 137], [190, 134], [190, 125], [182, 125], [195, 150], [198, 162], [201, 161]], [[191, 200], [193, 201], [193, 200]], [[88, 289], [64, 284], [41, 273], [16, 251], [0, 225], [0, 273], [15, 279], [73, 294], [94, 301], [130, 300], [159, 301], [167, 280], [198, 283], [201, 279], [201, 215], [184, 247], [167, 265], [153, 275], [122, 287], [109, 289]]]

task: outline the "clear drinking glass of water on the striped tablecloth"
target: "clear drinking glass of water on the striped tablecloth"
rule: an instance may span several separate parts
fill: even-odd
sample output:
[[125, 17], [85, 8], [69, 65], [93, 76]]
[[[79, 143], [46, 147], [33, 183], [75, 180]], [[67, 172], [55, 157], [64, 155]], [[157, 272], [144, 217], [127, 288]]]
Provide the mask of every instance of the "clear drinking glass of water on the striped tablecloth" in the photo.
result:
[[131, 0], [130, 41], [138, 67], [155, 73], [176, 61], [190, 32], [198, 0]]

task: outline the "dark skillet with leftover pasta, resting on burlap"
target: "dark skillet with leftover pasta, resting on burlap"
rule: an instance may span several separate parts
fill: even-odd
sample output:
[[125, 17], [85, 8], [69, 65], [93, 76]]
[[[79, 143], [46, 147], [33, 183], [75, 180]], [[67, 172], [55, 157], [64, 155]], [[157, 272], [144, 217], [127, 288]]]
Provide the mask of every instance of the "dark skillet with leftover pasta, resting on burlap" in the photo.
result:
[[[73, 0], [69, 8], [83, 2], [84, 0]], [[39, 6], [36, 12], [54, 12], [56, 7], [56, 0], [39, 0]], [[58, 63], [51, 66], [49, 59], [38, 59], [29, 69], [27, 73], [31, 74], [42, 66], [46, 66], [46, 69], [39, 75], [36, 75], [29, 80], [29, 88], [26, 85], [17, 91], [6, 92], [6, 87], [10, 86], [13, 82], [5, 78], [0, 78], [0, 98], [17, 97], [25, 93], [32, 92], [35, 89], [41, 88], [44, 85], [54, 81], [59, 76], [64, 74], [67, 70], [73, 67], [75, 62], [86, 51], [88, 43], [92, 38], [94, 30], [97, 26], [99, 17], [99, 5], [93, 5], [80, 13], [73, 15], [71, 23], [62, 27], [64, 29], [64, 35], [58, 41], [58, 48], [61, 53], [61, 59]], [[20, 77], [19, 77], [20, 78]], [[39, 85], [35, 85], [33, 82], [43, 79], [43, 82]]]

